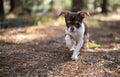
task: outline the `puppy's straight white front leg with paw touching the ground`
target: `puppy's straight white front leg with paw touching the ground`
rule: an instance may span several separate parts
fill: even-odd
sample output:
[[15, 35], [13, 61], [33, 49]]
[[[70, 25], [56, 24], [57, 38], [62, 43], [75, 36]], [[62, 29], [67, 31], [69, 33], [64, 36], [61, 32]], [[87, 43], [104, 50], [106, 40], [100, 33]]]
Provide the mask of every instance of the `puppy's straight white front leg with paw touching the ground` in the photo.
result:
[[72, 55], [72, 57], [71, 57], [72, 60], [77, 60], [77, 59], [78, 59], [78, 54], [79, 54], [79, 51], [80, 51], [83, 43], [84, 43], [84, 40], [83, 40], [83, 39], [81, 39], [81, 40], [78, 41], [77, 47], [76, 47], [76, 49], [75, 49], [75, 51], [73, 52], [73, 55]]

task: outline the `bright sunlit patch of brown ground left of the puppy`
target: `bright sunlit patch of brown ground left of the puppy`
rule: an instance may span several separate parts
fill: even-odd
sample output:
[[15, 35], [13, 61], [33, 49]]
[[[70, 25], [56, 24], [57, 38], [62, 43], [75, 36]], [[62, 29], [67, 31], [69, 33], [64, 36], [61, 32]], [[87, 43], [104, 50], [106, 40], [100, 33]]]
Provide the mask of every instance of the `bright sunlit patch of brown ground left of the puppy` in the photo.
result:
[[56, 36], [57, 33], [54, 32], [55, 30], [57, 30], [57, 27], [53, 26], [8, 29], [7, 31], [1, 31], [0, 40], [13, 43], [25, 43], [33, 40], [49, 39], [52, 36]]

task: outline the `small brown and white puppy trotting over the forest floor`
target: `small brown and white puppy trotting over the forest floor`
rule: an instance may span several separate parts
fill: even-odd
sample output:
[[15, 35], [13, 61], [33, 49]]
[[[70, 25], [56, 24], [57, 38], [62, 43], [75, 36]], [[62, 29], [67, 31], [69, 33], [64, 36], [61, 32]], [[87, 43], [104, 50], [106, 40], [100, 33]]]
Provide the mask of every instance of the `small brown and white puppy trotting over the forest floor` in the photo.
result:
[[88, 12], [69, 12], [62, 11], [60, 16], [65, 17], [66, 30], [65, 30], [65, 42], [70, 51], [74, 51], [71, 59], [77, 60], [80, 49], [83, 44], [88, 40], [88, 33], [86, 24], [83, 19]]

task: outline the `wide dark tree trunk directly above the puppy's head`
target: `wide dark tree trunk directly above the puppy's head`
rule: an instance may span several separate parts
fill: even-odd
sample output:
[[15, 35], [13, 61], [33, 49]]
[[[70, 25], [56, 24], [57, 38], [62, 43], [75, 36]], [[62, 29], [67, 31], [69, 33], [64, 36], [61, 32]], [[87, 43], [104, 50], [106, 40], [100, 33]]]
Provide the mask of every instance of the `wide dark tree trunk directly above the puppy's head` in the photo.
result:
[[83, 0], [72, 0], [72, 11], [80, 11], [83, 9], [84, 2]]

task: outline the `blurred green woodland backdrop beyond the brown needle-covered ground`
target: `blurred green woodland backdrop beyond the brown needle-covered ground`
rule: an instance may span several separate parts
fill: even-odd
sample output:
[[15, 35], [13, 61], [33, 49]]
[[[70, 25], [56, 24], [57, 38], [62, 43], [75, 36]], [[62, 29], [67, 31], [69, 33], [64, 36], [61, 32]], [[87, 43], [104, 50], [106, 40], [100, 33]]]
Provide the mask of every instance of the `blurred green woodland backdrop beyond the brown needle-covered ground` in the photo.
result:
[[120, 2], [119, 0], [0, 0], [0, 28], [53, 22], [62, 10], [89, 11], [91, 16], [112, 15], [119, 13]]

